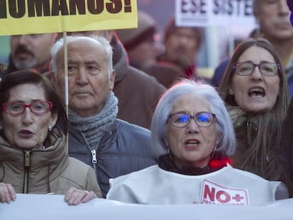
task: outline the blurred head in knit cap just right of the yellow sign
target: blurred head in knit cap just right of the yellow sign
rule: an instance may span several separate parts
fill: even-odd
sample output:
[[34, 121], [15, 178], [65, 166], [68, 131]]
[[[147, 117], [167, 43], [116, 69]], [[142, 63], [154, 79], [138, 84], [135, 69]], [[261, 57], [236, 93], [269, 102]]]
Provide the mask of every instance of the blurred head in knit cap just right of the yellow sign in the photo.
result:
[[137, 16], [137, 28], [116, 30], [116, 33], [127, 51], [130, 65], [143, 69], [156, 62], [156, 57], [163, 52], [163, 45], [154, 18], [144, 11], [138, 11]]

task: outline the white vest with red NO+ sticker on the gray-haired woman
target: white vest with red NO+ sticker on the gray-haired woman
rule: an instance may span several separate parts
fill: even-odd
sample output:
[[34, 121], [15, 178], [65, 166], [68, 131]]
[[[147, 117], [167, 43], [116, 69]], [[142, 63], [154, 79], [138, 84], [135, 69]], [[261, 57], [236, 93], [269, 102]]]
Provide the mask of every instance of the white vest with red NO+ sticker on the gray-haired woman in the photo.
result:
[[205, 175], [182, 175], [154, 165], [110, 179], [107, 199], [137, 204], [249, 205], [287, 199], [282, 182], [226, 166]]

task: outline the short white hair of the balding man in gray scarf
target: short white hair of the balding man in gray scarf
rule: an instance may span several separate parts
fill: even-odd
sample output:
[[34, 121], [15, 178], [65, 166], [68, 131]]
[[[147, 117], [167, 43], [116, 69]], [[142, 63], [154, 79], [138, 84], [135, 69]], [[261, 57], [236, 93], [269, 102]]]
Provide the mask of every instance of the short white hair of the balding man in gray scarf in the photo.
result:
[[[90, 36], [84, 36], [84, 35], [71, 35], [67, 36], [67, 45], [69, 45], [70, 42], [78, 41], [81, 39], [91, 39], [98, 42], [98, 44], [103, 45], [105, 52], [107, 54], [107, 66], [108, 66], [108, 73], [109, 78], [110, 74], [113, 71], [113, 49], [110, 45], [110, 42], [105, 39], [103, 36], [97, 36], [97, 35], [90, 35]], [[57, 42], [54, 43], [53, 47], [51, 48], [51, 69], [54, 72], [54, 75], [57, 76], [57, 53], [64, 48], [64, 38], [60, 38]]]

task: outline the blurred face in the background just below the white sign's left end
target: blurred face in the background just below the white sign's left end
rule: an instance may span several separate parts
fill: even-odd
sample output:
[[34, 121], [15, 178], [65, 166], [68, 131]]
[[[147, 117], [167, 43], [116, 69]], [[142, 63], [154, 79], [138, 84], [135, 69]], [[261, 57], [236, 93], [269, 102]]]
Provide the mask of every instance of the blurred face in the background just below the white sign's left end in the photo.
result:
[[176, 28], [166, 39], [166, 57], [168, 61], [176, 62], [186, 68], [195, 62], [199, 46], [192, 28]]

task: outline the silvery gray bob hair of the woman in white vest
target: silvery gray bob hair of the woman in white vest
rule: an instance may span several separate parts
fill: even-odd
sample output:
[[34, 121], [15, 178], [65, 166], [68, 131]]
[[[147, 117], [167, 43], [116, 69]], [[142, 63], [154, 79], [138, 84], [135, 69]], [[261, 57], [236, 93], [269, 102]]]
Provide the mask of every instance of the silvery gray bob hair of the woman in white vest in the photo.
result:
[[183, 79], [174, 84], [163, 94], [159, 100], [156, 110], [151, 120], [151, 141], [152, 153], [156, 158], [168, 153], [164, 137], [166, 132], [166, 122], [171, 114], [173, 103], [181, 95], [187, 94], [201, 95], [209, 101], [209, 108], [217, 117], [217, 133], [219, 134], [219, 145], [216, 151], [222, 151], [227, 156], [234, 154], [236, 150], [236, 137], [231, 118], [226, 110], [223, 100], [214, 87], [201, 81]]

